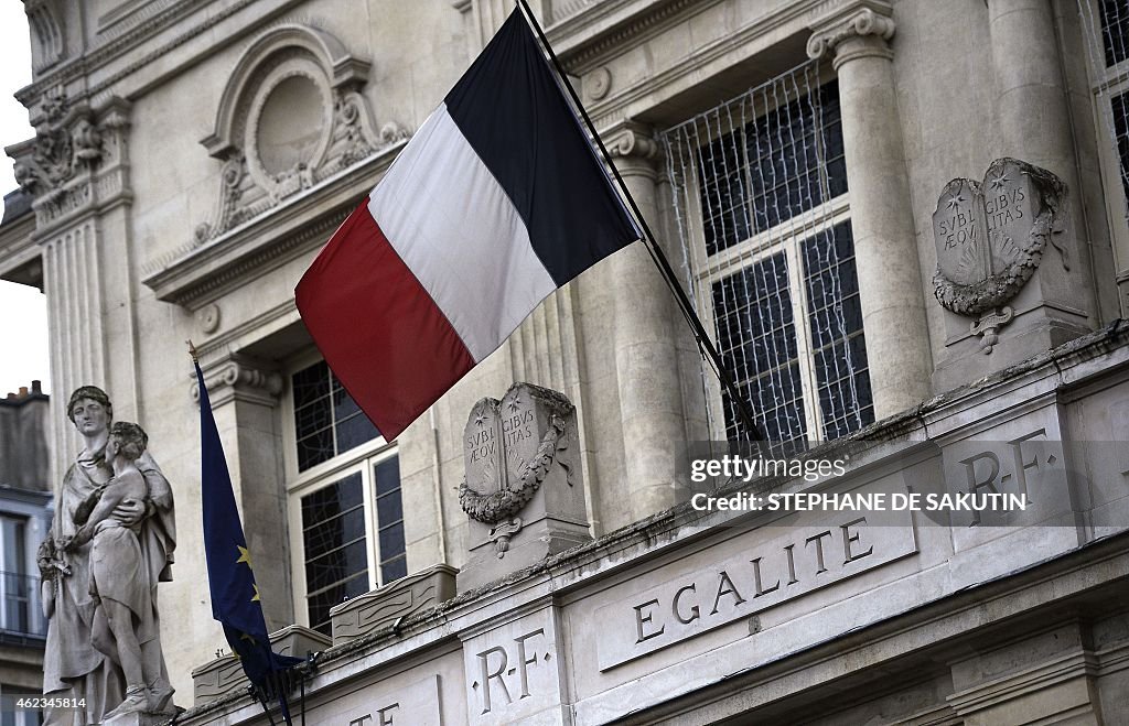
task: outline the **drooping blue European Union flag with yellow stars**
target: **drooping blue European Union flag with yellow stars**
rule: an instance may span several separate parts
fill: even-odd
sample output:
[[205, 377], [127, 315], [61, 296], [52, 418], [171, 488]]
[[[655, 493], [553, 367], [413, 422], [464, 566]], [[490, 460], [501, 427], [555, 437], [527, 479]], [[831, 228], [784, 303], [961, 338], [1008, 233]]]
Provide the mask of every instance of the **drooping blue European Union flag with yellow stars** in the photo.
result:
[[271, 650], [266, 621], [259, 602], [259, 586], [251, 569], [251, 552], [247, 551], [243, 523], [235, 507], [235, 492], [224, 458], [224, 445], [216, 428], [203, 373], [194, 360], [193, 365], [200, 384], [201, 508], [212, 617], [224, 626], [231, 652], [239, 658], [244, 673], [259, 693], [277, 694], [283, 716], [289, 721], [286, 694], [279, 685], [278, 675], [303, 661]]

